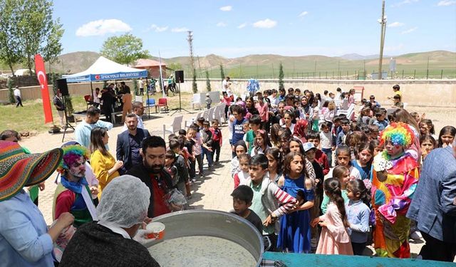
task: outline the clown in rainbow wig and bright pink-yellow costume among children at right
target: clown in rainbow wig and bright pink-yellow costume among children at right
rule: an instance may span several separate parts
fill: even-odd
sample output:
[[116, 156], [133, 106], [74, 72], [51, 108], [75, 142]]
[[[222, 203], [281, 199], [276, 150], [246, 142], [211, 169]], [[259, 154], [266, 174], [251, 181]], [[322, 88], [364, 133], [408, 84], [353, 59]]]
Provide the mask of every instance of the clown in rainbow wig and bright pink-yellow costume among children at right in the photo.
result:
[[380, 135], [383, 153], [373, 159], [372, 206], [375, 211], [374, 248], [378, 256], [410, 258], [410, 219], [405, 217], [418, 183], [418, 162], [408, 152], [413, 130], [393, 122]]

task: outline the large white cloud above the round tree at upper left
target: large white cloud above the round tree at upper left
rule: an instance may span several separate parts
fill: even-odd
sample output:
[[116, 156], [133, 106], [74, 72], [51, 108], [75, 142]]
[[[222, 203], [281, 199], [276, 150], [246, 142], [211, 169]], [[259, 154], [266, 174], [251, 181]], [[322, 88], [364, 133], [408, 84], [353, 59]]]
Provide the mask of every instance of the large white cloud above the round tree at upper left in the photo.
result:
[[79, 27], [76, 36], [102, 36], [106, 33], [118, 33], [131, 31], [132, 28], [125, 22], [118, 19], [100, 19], [90, 21]]

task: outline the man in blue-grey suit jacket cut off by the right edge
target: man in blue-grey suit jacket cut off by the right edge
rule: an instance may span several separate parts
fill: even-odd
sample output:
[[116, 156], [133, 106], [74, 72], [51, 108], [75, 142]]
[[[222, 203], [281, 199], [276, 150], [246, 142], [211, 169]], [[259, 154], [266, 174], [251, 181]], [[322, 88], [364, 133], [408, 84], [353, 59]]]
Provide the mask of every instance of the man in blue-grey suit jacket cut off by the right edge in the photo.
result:
[[407, 217], [417, 221], [426, 260], [454, 261], [456, 255], [456, 141], [437, 148], [423, 162]]

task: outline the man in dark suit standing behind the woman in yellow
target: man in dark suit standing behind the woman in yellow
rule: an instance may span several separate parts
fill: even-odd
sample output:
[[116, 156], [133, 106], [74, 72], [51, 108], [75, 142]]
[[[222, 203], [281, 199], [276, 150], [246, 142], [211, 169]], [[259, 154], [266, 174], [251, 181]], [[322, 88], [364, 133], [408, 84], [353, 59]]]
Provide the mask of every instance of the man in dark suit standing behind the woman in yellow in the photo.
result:
[[117, 147], [115, 149], [117, 159], [123, 161], [124, 172], [135, 165], [142, 164], [142, 156], [140, 155], [142, 140], [150, 137], [148, 130], [138, 128], [138, 117], [133, 113], [125, 117], [125, 125], [127, 125], [128, 130], [117, 136]]

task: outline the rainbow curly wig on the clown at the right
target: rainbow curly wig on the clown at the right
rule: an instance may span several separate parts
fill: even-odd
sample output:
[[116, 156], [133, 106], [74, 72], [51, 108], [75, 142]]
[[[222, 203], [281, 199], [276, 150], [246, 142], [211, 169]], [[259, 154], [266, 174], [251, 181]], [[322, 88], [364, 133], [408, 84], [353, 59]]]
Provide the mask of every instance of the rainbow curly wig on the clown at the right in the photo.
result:
[[404, 148], [413, 144], [415, 134], [413, 130], [404, 122], [391, 122], [388, 127], [380, 133], [381, 144], [391, 140], [393, 145], [400, 145]]

